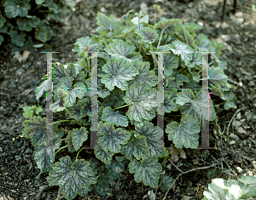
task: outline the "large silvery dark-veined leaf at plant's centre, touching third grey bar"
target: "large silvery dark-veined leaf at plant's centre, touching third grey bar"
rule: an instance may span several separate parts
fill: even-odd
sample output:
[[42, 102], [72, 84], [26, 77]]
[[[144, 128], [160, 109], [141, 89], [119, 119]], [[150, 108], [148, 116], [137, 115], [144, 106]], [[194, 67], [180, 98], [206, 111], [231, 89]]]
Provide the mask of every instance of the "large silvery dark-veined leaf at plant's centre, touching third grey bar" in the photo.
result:
[[154, 107], [157, 106], [155, 89], [148, 89], [144, 83], [131, 85], [124, 97], [129, 106], [126, 115], [130, 120], [142, 122], [143, 119], [151, 120], [155, 117]]

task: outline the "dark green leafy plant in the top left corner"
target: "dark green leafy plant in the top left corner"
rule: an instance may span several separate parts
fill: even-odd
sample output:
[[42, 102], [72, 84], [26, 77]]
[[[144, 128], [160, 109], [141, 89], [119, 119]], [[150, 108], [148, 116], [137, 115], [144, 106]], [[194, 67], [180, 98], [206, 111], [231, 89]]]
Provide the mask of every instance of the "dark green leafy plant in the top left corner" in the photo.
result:
[[43, 47], [55, 36], [52, 23], [61, 22], [63, 14], [75, 7], [73, 0], [3, 0], [0, 4], [0, 45], [6, 40], [14, 51], [35, 40], [40, 42], [35, 47]]

